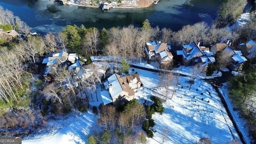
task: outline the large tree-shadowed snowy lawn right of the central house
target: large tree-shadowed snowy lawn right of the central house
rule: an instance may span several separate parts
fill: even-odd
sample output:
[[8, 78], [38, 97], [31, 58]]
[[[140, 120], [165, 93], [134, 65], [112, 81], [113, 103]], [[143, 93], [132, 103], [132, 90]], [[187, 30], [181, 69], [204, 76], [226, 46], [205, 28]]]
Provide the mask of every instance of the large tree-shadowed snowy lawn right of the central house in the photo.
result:
[[[140, 74], [143, 84], [143, 87], [136, 90], [135, 97], [137, 99], [148, 100], [152, 95], [164, 99], [165, 89], [159, 88], [160, 78], [158, 73], [139, 69], [135, 69], [135, 71]], [[150, 144], [161, 143], [164, 132], [168, 132], [167, 144], [191, 144], [204, 136], [209, 137], [213, 144], [220, 144], [232, 140], [232, 134], [240, 140], [218, 94], [212, 86], [196, 79], [192, 89], [188, 90], [188, 80], [188, 77], [180, 77], [180, 85], [177, 86], [172, 100], [170, 100], [170, 95], [173, 87], [170, 87], [168, 99], [163, 102], [164, 113], [162, 115], [156, 113], [152, 116], [156, 123], [154, 129], [157, 132], [154, 133], [154, 139], [149, 139]], [[204, 99], [202, 100], [202, 98]]]

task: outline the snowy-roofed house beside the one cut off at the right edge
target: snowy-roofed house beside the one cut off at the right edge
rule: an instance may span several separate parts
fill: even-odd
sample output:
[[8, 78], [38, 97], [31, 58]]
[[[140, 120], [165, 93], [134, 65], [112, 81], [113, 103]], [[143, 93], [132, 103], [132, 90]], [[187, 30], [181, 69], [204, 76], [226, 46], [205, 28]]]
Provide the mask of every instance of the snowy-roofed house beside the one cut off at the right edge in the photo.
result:
[[240, 70], [242, 64], [247, 60], [244, 56], [242, 56], [242, 52], [240, 50], [234, 50], [229, 45], [226, 46], [226, 48], [224, 48], [222, 52], [230, 55], [230, 64], [228, 65], [228, 67], [232, 71]]

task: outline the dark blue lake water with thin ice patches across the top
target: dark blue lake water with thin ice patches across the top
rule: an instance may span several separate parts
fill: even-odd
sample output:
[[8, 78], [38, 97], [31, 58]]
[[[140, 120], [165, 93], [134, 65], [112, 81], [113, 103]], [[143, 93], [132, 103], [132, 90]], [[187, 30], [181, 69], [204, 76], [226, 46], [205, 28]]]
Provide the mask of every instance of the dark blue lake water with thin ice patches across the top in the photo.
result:
[[[84, 24], [99, 29], [113, 26], [140, 26], [148, 18], [152, 26], [178, 30], [187, 24], [204, 21], [210, 24], [216, 17], [222, 0], [161, 0], [142, 9], [110, 9], [60, 5], [53, 0], [0, 0], [0, 5], [12, 10], [32, 30], [43, 33], [59, 31], [66, 24]], [[42, 32], [41, 32], [42, 31]]]

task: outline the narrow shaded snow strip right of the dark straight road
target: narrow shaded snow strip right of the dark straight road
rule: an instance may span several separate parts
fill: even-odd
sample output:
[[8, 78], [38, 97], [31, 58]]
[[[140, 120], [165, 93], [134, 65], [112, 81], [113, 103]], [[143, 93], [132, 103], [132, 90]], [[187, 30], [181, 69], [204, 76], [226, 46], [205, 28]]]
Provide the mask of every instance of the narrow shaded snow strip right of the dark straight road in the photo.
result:
[[228, 104], [229, 110], [230, 110], [234, 120], [236, 121], [238, 129], [240, 130], [240, 132], [242, 132], [242, 134], [246, 140], [246, 143], [250, 144], [250, 141], [252, 139], [249, 136], [249, 131], [248, 131], [248, 128], [246, 127], [246, 122], [242, 118], [240, 118], [238, 111], [234, 110], [232, 100], [230, 98], [228, 98], [228, 90], [226, 88], [226, 85], [227, 85], [227, 83], [224, 83], [223, 88], [219, 88], [220, 93], [222, 94], [226, 103]]

